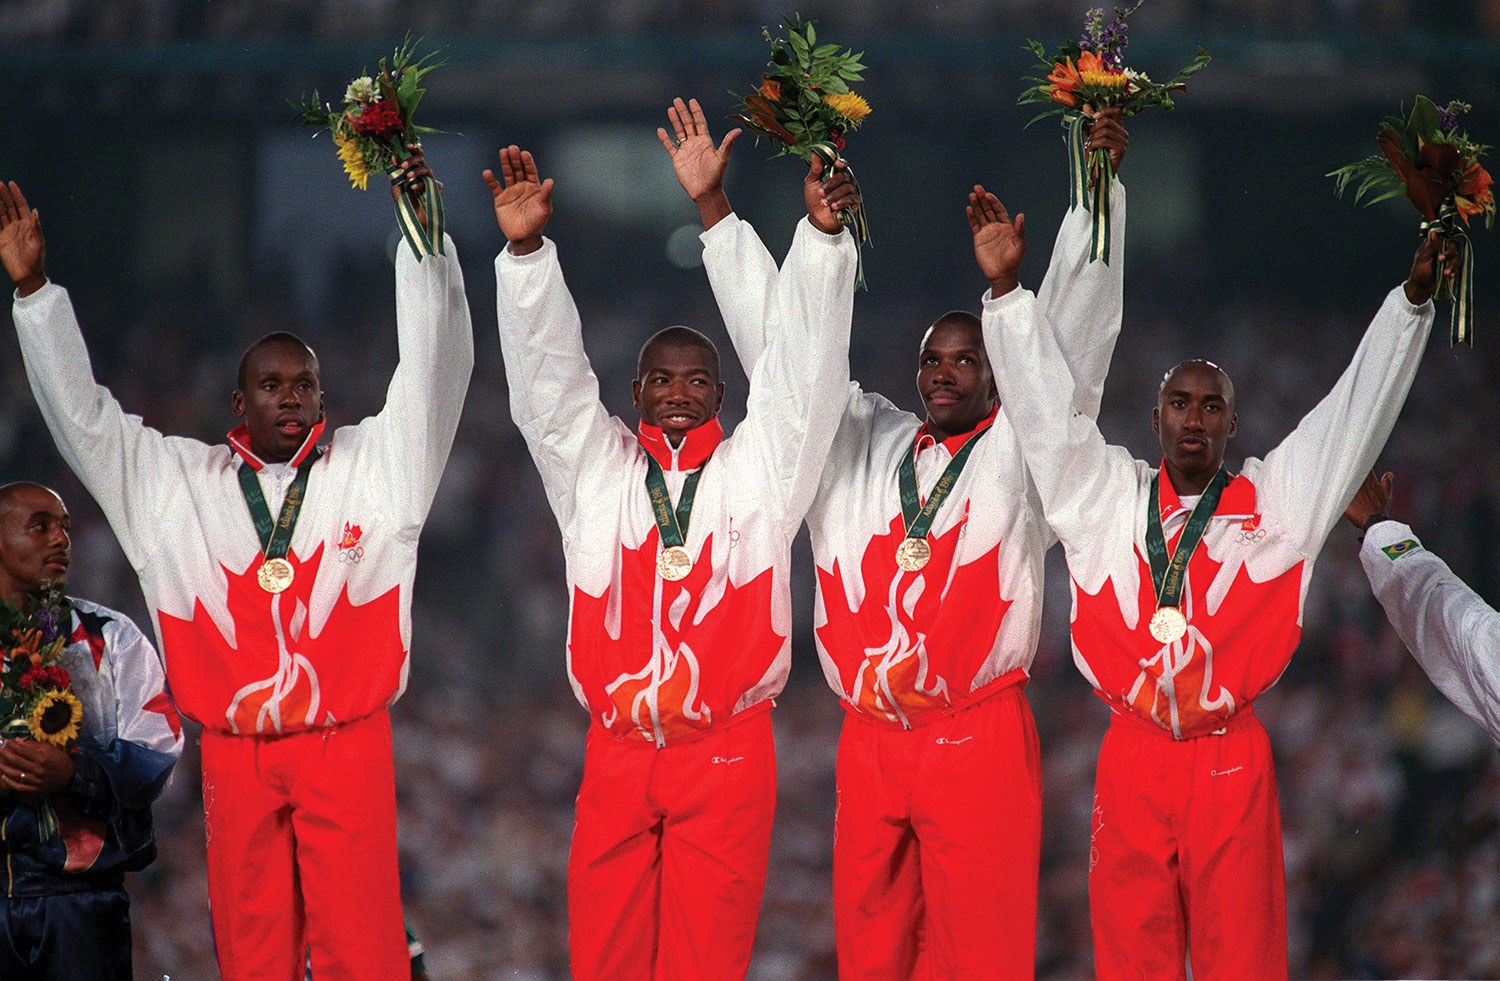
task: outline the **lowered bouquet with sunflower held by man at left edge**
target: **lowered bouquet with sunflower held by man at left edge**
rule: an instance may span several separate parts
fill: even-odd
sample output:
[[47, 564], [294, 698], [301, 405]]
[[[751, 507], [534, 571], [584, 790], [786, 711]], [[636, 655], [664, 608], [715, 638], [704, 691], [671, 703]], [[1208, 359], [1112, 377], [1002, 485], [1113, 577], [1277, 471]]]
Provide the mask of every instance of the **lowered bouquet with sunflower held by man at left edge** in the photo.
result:
[[[32, 608], [0, 603], [0, 736], [36, 740], [62, 748], [78, 742], [84, 705], [58, 664], [68, 645], [72, 606], [60, 585], [44, 582]], [[44, 795], [36, 802], [42, 840], [57, 834], [57, 812]]]

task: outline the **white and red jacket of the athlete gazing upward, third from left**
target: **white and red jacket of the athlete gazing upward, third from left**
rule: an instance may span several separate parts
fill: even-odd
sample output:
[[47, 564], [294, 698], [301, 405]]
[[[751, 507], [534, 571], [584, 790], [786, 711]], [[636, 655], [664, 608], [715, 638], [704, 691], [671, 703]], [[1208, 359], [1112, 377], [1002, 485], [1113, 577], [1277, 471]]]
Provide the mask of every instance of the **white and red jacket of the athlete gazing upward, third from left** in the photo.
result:
[[[1125, 188], [1110, 196], [1110, 261], [1089, 262], [1089, 213], [1070, 212], [1042, 284], [1048, 322], [1078, 386], [1077, 411], [1094, 418], [1120, 328]], [[754, 364], [780, 338], [764, 330], [784, 279], [801, 276], [796, 256], [776, 261], [746, 222], [732, 216], [704, 236], [704, 266], [740, 360]], [[778, 279], [780, 276], [780, 279]], [[894, 357], [916, 364], [918, 336]], [[996, 374], [1011, 370], [990, 358]], [[1024, 676], [1041, 628], [1042, 556], [1053, 538], [1023, 465], [1014, 412], [1002, 405], [969, 454], [928, 532], [932, 558], [914, 573], [896, 566], [906, 537], [897, 468], [918, 442], [921, 498], [962, 441], [934, 442], [921, 420], [850, 382], [837, 400], [838, 432], [807, 526], [818, 566], [814, 626], [830, 687], [844, 706], [904, 728], [984, 698], [986, 686]], [[1022, 672], [1017, 675], [1017, 672]]]

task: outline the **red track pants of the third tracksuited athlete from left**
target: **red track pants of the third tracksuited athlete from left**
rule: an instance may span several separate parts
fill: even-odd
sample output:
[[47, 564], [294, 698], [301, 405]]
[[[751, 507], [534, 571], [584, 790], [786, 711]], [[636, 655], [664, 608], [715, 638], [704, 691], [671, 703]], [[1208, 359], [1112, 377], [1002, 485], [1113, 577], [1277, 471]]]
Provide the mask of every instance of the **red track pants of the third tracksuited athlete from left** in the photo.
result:
[[838, 740], [840, 978], [1030, 978], [1041, 756], [1023, 684], [912, 730]]

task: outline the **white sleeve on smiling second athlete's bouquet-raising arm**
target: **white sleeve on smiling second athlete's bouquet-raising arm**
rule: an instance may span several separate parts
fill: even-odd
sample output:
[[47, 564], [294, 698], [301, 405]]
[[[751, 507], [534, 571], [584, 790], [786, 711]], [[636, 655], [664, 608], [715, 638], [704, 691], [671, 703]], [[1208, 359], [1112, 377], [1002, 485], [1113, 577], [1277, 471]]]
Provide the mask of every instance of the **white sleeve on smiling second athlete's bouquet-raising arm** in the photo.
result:
[[788, 537], [813, 502], [848, 404], [854, 273], [848, 231], [830, 236], [798, 222], [777, 280], [770, 340], [750, 376], [746, 420], [735, 430], [754, 447]]

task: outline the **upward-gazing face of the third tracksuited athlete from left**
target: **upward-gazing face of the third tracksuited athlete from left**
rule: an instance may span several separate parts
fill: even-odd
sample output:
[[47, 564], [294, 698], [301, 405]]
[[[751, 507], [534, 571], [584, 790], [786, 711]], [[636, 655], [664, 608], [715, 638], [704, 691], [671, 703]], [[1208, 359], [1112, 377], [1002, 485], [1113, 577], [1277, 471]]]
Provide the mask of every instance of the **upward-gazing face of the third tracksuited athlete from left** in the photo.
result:
[[974, 315], [948, 314], [927, 328], [916, 357], [916, 392], [936, 440], [969, 432], [994, 408], [994, 375]]

